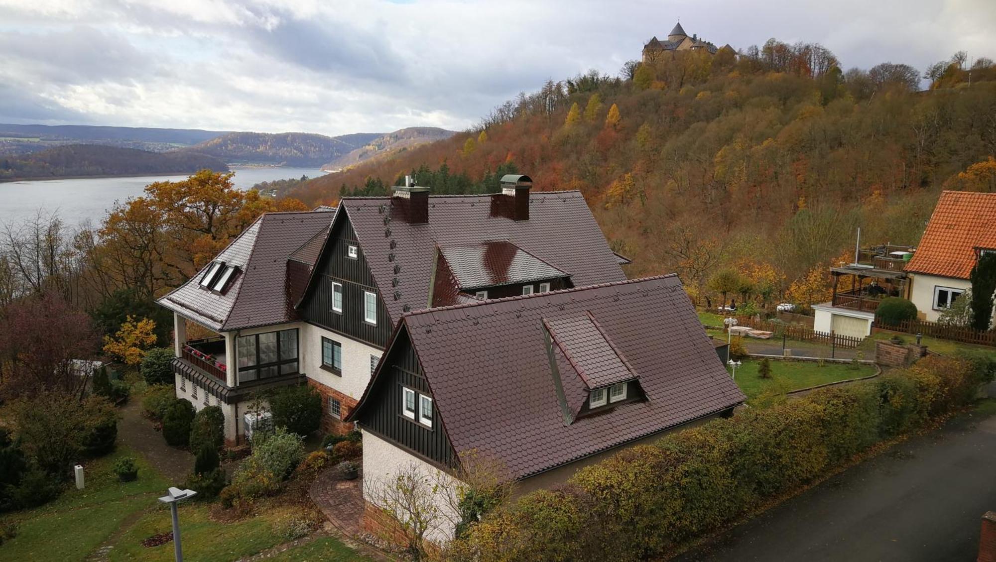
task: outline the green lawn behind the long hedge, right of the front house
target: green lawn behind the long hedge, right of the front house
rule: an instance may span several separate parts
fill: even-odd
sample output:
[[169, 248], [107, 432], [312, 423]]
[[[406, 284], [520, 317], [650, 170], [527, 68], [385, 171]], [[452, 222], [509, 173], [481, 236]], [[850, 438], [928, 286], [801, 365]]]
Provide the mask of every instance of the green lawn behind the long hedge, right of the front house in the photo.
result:
[[760, 361], [745, 360], [737, 368], [735, 380], [740, 390], [747, 395], [748, 402], [762, 395], [781, 395], [827, 383], [871, 377], [875, 373], [871, 365], [861, 365], [855, 369], [851, 364], [826, 363], [821, 367], [813, 362], [772, 361], [771, 379], [762, 379], [757, 374], [760, 364]]

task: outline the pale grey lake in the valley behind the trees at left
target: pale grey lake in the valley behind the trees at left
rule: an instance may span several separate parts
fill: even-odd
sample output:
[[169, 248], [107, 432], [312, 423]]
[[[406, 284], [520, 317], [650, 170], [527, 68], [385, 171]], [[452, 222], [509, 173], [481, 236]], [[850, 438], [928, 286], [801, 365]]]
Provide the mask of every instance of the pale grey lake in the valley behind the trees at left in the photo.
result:
[[[260, 181], [291, 177], [317, 177], [323, 172], [309, 167], [238, 166], [235, 186], [247, 189]], [[90, 219], [97, 224], [115, 201], [140, 195], [153, 181], [176, 181], [180, 175], [145, 175], [140, 177], [83, 177], [77, 179], [37, 179], [0, 183], [0, 224], [14, 224], [34, 216], [39, 209], [58, 213], [67, 226], [75, 227]]]

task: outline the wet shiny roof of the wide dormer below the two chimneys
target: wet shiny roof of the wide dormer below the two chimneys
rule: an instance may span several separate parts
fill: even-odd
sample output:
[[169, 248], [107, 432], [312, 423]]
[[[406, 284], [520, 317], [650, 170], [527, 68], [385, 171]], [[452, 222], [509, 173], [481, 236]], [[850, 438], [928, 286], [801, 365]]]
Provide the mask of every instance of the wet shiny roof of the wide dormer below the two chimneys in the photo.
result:
[[461, 290], [570, 277], [515, 244], [487, 241], [440, 248]]

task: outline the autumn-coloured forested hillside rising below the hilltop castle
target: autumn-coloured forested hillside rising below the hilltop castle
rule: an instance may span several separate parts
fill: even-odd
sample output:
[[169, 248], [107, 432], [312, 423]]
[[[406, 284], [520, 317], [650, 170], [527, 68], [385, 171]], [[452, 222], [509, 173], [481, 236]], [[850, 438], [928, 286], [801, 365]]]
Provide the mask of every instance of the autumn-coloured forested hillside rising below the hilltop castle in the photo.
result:
[[843, 72], [819, 45], [665, 59], [628, 63], [622, 78], [549, 82], [473, 132], [293, 194], [314, 204], [385, 193], [412, 171], [436, 193], [489, 191], [499, 166], [518, 169], [536, 189], [580, 189], [614, 249], [633, 258], [630, 276], [676, 271], [696, 293], [736, 266], [780, 293], [818, 284], [813, 272], [853, 252], [858, 226], [863, 242], [916, 243], [943, 186], [992, 188], [988, 59], [968, 69], [959, 53], [931, 66], [925, 92], [916, 69]]

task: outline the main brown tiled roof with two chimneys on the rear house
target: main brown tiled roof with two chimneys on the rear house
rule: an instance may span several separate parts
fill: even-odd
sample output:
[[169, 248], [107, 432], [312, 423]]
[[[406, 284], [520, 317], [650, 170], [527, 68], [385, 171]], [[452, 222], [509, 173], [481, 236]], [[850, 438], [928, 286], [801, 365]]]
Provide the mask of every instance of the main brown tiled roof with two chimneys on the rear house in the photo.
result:
[[429, 220], [422, 224], [405, 222], [392, 197], [342, 199], [392, 323], [405, 307], [428, 306], [437, 247], [506, 240], [567, 273], [575, 285], [625, 279], [581, 192], [531, 193], [530, 218], [518, 221], [494, 212], [495, 197], [504, 196], [430, 196]]

